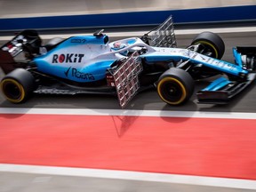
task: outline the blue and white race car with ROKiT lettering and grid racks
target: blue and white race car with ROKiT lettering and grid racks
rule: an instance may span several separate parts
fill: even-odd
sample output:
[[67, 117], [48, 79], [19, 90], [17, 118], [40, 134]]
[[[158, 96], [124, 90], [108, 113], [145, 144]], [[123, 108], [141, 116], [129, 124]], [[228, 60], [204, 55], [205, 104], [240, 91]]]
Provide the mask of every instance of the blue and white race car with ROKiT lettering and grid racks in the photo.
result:
[[[140, 38], [111, 43], [100, 30], [43, 45], [36, 30], [24, 30], [0, 48], [7, 74], [0, 85], [13, 103], [32, 93], [103, 93], [117, 95], [124, 108], [147, 87], [156, 87], [164, 102], [180, 105], [193, 94], [195, 80], [223, 74], [197, 92], [199, 103], [221, 104], [251, 84], [256, 70], [256, 47], [234, 48], [234, 64], [220, 60], [224, 51], [222, 39], [212, 32], [177, 48], [172, 17]], [[25, 60], [15, 58], [20, 52]]]

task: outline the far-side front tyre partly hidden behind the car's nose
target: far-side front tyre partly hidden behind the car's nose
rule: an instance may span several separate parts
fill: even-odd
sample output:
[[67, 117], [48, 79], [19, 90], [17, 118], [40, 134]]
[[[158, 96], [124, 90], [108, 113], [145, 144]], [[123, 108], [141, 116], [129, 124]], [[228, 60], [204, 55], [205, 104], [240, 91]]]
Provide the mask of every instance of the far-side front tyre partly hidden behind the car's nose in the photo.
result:
[[203, 32], [196, 36], [191, 45], [200, 44], [197, 52], [211, 56], [215, 59], [221, 59], [225, 52], [225, 44], [220, 36], [212, 32]]

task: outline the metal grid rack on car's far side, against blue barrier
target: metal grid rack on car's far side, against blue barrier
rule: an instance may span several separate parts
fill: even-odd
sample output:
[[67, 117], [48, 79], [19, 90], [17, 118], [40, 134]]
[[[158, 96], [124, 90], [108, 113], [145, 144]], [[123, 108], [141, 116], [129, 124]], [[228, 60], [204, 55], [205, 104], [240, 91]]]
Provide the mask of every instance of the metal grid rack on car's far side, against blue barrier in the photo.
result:
[[177, 47], [172, 16], [162, 24], [140, 37], [143, 42], [156, 47]]

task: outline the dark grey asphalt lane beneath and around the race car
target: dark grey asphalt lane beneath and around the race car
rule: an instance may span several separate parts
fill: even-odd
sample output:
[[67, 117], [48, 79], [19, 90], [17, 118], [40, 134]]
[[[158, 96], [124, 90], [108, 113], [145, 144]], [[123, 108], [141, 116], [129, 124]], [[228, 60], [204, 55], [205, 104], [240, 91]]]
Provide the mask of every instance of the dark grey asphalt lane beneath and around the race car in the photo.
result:
[[[142, 33], [141, 33], [142, 34]], [[195, 35], [176, 35], [178, 47], [186, 47], [191, 43]], [[220, 33], [226, 44], [226, 52], [222, 60], [233, 62], [232, 47], [236, 45], [255, 45], [256, 32], [234, 32]], [[118, 37], [111, 37], [110, 41], [114, 41]], [[44, 40], [47, 41], [47, 40]], [[0, 42], [3, 44], [4, 42]], [[0, 74], [0, 78], [3, 74]], [[207, 86], [207, 82], [196, 82], [196, 89], [192, 98], [185, 105], [172, 107], [166, 105], [157, 95], [155, 89], [140, 92], [128, 104], [126, 109], [144, 109], [144, 110], [180, 110], [180, 111], [215, 111], [215, 112], [256, 112], [256, 90], [255, 83], [252, 83], [244, 92], [241, 92], [227, 105], [197, 104], [196, 92]], [[12, 104], [4, 100], [0, 95], [1, 108], [103, 108], [103, 109], [119, 109], [118, 101], [114, 96], [102, 95], [44, 95], [36, 94], [26, 103], [19, 105]]]

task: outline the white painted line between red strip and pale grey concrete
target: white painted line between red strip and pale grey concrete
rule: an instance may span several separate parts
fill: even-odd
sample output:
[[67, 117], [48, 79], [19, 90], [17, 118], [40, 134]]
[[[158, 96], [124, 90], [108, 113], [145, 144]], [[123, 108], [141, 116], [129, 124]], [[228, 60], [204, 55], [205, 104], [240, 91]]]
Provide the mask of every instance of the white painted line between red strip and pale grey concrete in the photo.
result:
[[85, 168], [68, 168], [55, 166], [0, 164], [0, 172], [18, 172], [32, 174], [47, 174], [76, 177], [93, 177], [114, 180], [139, 180], [151, 182], [164, 182], [174, 184], [188, 184], [220, 188], [256, 189], [256, 180], [240, 180], [213, 178], [201, 176], [176, 175], [152, 172], [128, 172]]

